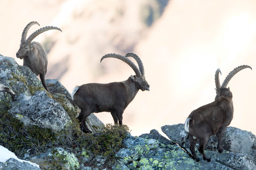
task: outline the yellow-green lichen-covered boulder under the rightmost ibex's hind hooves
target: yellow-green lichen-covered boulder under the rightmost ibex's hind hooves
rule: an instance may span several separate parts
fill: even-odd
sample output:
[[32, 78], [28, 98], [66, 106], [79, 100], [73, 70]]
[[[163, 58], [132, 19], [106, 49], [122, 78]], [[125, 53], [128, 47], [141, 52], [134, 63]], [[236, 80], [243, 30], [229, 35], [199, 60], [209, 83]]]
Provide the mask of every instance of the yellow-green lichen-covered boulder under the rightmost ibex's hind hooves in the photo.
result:
[[254, 170], [256, 165], [241, 153], [224, 151], [206, 151], [212, 158], [211, 162], [204, 161], [199, 152], [199, 162], [193, 160], [177, 144], [163, 144], [155, 139], [143, 139], [128, 135], [124, 146], [116, 153], [116, 164], [113, 170]]

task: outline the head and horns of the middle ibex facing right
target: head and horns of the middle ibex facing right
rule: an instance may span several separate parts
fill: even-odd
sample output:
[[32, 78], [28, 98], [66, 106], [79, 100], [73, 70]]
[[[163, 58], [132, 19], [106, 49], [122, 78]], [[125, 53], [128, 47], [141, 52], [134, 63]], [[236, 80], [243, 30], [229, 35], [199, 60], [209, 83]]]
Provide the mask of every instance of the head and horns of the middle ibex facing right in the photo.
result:
[[[124, 56], [121, 56], [119, 54], [106, 54], [105, 56], [102, 57], [102, 59], [105, 58], [117, 58], [122, 60], [123, 62], [127, 63], [128, 65], [130, 65], [130, 67], [134, 70], [136, 75], [131, 75], [131, 79], [137, 84], [138, 88], [142, 91], [149, 91], [149, 84], [145, 79], [145, 74], [144, 74], [144, 67], [143, 67], [143, 63], [140, 60], [140, 57], [138, 57], [136, 54], [133, 53], [128, 53]], [[137, 68], [137, 66], [127, 57], [133, 57], [137, 63], [140, 69]], [[100, 60], [100, 62], [102, 61], [102, 59]]]

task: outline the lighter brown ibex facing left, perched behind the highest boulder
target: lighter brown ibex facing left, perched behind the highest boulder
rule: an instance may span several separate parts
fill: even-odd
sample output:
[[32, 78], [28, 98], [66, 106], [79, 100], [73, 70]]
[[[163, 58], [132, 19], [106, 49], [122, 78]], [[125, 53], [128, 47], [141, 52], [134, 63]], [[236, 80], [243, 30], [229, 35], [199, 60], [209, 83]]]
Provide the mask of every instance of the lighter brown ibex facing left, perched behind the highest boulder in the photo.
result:
[[44, 79], [48, 64], [47, 53], [39, 42], [32, 42], [32, 40], [44, 31], [51, 29], [57, 29], [61, 31], [61, 29], [53, 26], [46, 26], [38, 29], [33, 34], [31, 34], [28, 39], [26, 39], [29, 28], [34, 24], [39, 25], [38, 22], [32, 21], [24, 28], [20, 40], [20, 49], [16, 53], [16, 57], [23, 59], [23, 65], [28, 66], [37, 76], [40, 75], [40, 79], [44, 88], [49, 91]]

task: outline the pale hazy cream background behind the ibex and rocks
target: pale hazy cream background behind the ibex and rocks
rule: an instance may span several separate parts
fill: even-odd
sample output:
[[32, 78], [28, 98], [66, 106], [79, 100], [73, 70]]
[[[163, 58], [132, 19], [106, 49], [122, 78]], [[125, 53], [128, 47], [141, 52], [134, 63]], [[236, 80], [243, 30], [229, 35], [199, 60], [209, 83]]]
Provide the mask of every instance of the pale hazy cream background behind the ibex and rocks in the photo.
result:
[[[236, 74], [231, 126], [256, 134], [255, 0], [1, 0], [0, 54], [15, 57], [30, 21], [58, 26], [35, 38], [48, 52], [46, 78], [70, 93], [76, 85], [123, 81], [134, 71], [103, 55], [139, 55], [150, 91], [139, 91], [123, 114], [132, 135], [183, 123], [192, 110], [215, 98], [214, 74], [221, 82]], [[32, 26], [28, 33], [41, 28]], [[110, 113], [96, 113], [113, 123]]]

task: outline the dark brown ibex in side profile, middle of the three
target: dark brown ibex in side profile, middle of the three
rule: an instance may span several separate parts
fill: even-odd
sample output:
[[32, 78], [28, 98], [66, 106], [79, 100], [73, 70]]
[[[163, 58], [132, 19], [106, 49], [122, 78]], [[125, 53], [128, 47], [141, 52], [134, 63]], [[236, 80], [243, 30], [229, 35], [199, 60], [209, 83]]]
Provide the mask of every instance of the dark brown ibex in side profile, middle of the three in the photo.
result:
[[[119, 125], [122, 125], [122, 114], [138, 91], [149, 91], [148, 82], [145, 80], [143, 63], [136, 54], [128, 53], [125, 57], [118, 54], [106, 54], [102, 59], [109, 57], [126, 62], [136, 75], [131, 75], [131, 77], [123, 82], [111, 82], [108, 84], [89, 83], [74, 88], [71, 97], [81, 108], [78, 119], [81, 122], [81, 129], [86, 133], [91, 133], [85, 123], [86, 118], [91, 113], [111, 112], [114, 123], [117, 124], [119, 122]], [[127, 57], [133, 57], [137, 61], [139, 69]]]

